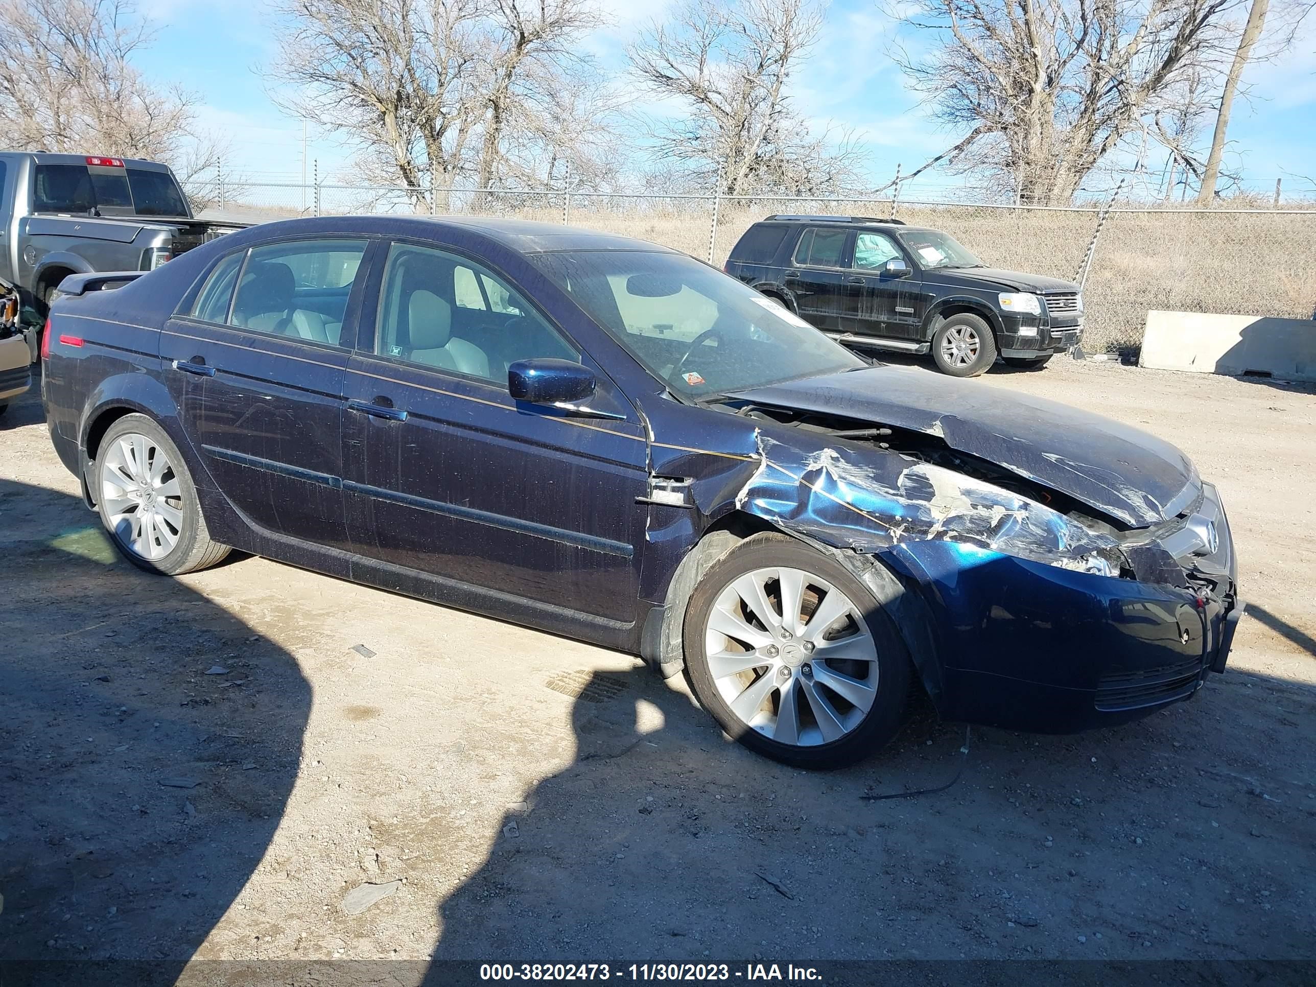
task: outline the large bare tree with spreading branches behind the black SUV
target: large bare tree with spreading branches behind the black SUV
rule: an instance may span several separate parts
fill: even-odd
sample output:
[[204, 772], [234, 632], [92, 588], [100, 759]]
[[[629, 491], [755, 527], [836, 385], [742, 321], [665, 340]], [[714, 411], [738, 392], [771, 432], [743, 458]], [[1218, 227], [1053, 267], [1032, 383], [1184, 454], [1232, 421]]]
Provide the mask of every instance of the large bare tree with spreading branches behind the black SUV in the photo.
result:
[[969, 129], [954, 161], [1021, 203], [1066, 204], [1126, 138], [1182, 104], [1213, 64], [1237, 0], [913, 0], [926, 57], [896, 53], [940, 118]]

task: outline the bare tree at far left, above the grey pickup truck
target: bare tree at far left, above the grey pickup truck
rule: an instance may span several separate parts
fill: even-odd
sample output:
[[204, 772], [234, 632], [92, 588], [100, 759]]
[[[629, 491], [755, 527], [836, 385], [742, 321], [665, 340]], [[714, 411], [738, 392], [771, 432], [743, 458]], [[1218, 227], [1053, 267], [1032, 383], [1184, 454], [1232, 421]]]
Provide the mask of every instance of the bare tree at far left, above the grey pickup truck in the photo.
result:
[[132, 64], [151, 41], [126, 0], [0, 0], [0, 128], [33, 150], [171, 162], [195, 97]]

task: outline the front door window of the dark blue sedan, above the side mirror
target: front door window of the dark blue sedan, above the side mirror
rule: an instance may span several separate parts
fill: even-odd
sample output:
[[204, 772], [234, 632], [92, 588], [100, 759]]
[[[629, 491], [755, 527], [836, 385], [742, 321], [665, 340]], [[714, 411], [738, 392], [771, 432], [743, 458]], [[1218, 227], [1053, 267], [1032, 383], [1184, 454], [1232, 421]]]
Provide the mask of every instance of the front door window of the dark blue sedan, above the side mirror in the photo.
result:
[[395, 243], [388, 253], [375, 353], [500, 386], [519, 359], [580, 359], [496, 274], [409, 243]]

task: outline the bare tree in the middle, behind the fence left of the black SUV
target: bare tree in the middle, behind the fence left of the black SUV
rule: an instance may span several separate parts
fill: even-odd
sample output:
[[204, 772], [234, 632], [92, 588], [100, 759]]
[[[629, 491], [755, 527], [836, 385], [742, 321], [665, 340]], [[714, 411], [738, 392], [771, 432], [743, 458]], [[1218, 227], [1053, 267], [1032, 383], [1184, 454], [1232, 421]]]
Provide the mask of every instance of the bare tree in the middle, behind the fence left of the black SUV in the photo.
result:
[[704, 188], [838, 191], [855, 180], [857, 150], [809, 132], [788, 83], [822, 26], [815, 0], [684, 0], [629, 49], [634, 74], [690, 113], [653, 128], [654, 157]]

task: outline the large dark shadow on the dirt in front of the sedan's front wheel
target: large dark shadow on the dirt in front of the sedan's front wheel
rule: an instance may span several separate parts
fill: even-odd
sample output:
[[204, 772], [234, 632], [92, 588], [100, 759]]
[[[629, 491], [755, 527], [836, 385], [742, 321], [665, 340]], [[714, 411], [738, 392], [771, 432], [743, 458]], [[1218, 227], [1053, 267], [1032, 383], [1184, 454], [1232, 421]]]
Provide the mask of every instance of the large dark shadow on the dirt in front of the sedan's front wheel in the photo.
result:
[[1304, 686], [1232, 672], [1117, 729], [975, 729], [948, 791], [878, 801], [953, 779], [965, 728], [916, 700], [870, 762], [804, 772], [726, 742], [644, 669], [586, 692], [575, 763], [440, 903], [426, 983], [503, 957], [1313, 957]]

